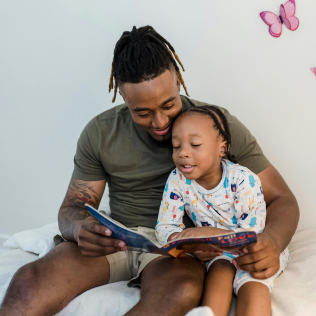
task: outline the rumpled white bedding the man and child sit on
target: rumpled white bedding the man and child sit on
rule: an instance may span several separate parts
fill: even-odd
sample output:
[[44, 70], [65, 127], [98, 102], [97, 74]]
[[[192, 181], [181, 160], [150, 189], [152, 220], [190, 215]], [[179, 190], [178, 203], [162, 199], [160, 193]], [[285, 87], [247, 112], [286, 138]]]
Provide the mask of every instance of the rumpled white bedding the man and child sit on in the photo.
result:
[[[55, 225], [55, 226], [54, 226]], [[52, 247], [52, 236], [58, 233], [56, 224], [15, 234], [5, 244], [36, 250], [43, 256]], [[57, 230], [54, 231], [53, 227]], [[40, 235], [44, 234], [44, 235]], [[51, 237], [48, 237], [50, 235]], [[51, 246], [49, 246], [51, 245]], [[29, 250], [33, 249], [33, 250]], [[283, 274], [276, 279], [271, 293], [272, 316], [312, 316], [316, 314], [316, 230], [304, 230], [294, 235], [289, 244], [291, 261]], [[38, 255], [17, 249], [0, 255], [0, 302], [16, 270]], [[140, 290], [128, 288], [127, 282], [118, 282], [91, 289], [58, 313], [58, 316], [121, 316], [133, 307], [140, 298]], [[233, 298], [229, 316], [234, 315], [236, 298]], [[209, 314], [209, 315], [208, 315]], [[211, 316], [204, 309], [196, 310], [194, 316]]]

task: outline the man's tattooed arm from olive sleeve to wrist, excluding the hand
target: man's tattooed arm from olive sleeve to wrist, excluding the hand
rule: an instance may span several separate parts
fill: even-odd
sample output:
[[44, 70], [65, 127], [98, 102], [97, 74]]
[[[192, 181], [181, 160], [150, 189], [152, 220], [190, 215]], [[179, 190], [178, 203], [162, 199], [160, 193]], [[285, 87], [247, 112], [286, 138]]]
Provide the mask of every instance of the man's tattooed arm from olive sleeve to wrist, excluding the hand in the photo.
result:
[[[99, 207], [105, 183], [103, 186], [101, 185], [101, 194], [95, 191], [94, 186], [97, 186], [96, 182], [74, 178], [70, 180], [66, 196], [58, 213], [59, 229], [66, 240], [75, 241], [74, 228], [76, 222], [89, 216], [84, 204], [88, 203], [95, 208]], [[100, 186], [97, 189], [100, 191]]]

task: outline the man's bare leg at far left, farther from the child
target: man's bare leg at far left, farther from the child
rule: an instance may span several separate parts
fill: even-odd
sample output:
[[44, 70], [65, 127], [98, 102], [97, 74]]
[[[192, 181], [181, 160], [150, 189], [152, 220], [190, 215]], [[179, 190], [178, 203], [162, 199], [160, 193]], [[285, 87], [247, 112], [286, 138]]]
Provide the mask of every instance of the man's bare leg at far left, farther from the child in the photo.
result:
[[53, 315], [81, 293], [107, 284], [109, 278], [106, 257], [85, 257], [76, 243], [63, 242], [15, 273], [0, 315]]

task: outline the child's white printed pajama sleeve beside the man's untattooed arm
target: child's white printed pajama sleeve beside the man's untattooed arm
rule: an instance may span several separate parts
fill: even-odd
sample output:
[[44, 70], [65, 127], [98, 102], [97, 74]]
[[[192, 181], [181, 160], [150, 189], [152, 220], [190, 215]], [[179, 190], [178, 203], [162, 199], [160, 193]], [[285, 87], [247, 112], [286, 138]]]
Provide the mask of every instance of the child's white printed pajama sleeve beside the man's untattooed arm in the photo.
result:
[[243, 173], [238, 177], [240, 183], [236, 183], [234, 209], [238, 228], [234, 231], [256, 228], [257, 234], [262, 233], [265, 226], [266, 205], [261, 182], [255, 173], [246, 170]]

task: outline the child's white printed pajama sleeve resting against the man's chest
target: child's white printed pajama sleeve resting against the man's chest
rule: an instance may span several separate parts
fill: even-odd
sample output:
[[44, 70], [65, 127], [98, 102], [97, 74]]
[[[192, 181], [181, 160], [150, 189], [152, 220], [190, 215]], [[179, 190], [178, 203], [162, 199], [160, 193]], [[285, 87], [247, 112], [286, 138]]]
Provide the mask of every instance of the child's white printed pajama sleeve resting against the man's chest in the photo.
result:
[[[177, 175], [174, 175], [174, 172]], [[166, 243], [171, 234], [180, 233], [185, 228], [182, 221], [185, 209], [183, 197], [179, 190], [178, 175], [177, 169], [170, 173], [163, 191], [155, 227], [155, 235], [160, 244]]]

